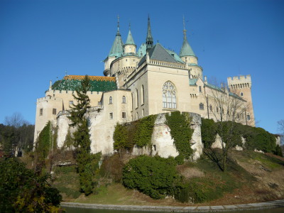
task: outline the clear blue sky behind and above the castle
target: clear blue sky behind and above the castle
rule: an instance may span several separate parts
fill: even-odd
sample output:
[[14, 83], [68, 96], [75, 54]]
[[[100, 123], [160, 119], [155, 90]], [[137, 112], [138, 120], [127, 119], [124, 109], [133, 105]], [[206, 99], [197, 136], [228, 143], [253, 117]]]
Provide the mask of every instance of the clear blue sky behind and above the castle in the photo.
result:
[[35, 122], [35, 102], [49, 80], [103, 75], [116, 34], [129, 22], [139, 47], [151, 16], [154, 43], [180, 52], [182, 16], [204, 75], [251, 75], [257, 126], [278, 133], [284, 119], [284, 1], [0, 0], [0, 123], [20, 112]]

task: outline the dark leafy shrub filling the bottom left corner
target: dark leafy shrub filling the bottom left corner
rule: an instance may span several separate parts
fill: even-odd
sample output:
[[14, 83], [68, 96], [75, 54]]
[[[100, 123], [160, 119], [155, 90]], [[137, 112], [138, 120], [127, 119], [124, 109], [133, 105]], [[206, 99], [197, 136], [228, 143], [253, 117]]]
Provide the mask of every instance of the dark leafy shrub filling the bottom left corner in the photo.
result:
[[0, 160], [0, 212], [61, 212], [62, 196], [47, 174], [28, 170], [15, 158]]

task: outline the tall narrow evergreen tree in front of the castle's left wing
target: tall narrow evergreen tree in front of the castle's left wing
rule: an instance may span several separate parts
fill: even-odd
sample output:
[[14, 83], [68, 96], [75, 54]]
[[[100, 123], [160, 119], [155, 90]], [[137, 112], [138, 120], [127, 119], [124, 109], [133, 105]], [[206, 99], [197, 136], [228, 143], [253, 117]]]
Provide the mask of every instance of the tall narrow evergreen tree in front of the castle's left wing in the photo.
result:
[[87, 96], [89, 88], [89, 77], [86, 75], [84, 80], [81, 81], [80, 87], [76, 89], [76, 95], [73, 94], [76, 103], [71, 107], [72, 110], [69, 116], [69, 119], [72, 121], [70, 126], [75, 126], [77, 129], [73, 134], [76, 147], [76, 161], [80, 175], [80, 187], [86, 195], [91, 194], [93, 190], [91, 141], [89, 139], [89, 124], [86, 118], [87, 111], [90, 108], [90, 100]]

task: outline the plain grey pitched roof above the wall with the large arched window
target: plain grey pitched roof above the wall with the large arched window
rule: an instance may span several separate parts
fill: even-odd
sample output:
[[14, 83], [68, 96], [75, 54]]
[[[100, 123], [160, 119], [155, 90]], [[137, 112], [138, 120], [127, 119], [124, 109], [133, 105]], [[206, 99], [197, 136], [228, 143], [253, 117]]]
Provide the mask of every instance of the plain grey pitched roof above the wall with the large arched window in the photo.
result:
[[[153, 48], [151, 48], [151, 50], [149, 50], [148, 53], [149, 53], [149, 58], [152, 60], [160, 60], [172, 63], [180, 62], [180, 60], [175, 60], [175, 55], [171, 55], [170, 53], [168, 53], [168, 50], [165, 50], [165, 48], [163, 48], [163, 46], [160, 45], [160, 43], [154, 45]], [[144, 55], [143, 58], [141, 58], [140, 62], [138, 63], [138, 66], [143, 64], [144, 61], [146, 61], [146, 55]]]

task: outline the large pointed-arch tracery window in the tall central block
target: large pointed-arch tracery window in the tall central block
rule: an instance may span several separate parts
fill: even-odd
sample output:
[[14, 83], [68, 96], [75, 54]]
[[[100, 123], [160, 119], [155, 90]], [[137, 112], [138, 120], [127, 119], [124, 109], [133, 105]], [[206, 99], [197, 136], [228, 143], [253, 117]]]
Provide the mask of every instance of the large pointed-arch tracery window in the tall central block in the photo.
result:
[[163, 108], [177, 108], [175, 85], [170, 81], [163, 84]]

